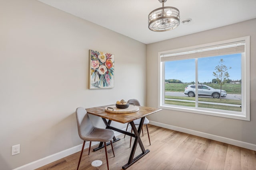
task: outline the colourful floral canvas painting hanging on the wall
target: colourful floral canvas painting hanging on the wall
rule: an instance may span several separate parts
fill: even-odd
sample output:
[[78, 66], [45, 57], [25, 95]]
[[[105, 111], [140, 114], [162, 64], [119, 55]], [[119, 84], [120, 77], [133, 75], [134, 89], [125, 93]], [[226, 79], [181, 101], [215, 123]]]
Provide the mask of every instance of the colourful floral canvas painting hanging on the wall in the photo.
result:
[[90, 50], [89, 88], [114, 88], [113, 54]]

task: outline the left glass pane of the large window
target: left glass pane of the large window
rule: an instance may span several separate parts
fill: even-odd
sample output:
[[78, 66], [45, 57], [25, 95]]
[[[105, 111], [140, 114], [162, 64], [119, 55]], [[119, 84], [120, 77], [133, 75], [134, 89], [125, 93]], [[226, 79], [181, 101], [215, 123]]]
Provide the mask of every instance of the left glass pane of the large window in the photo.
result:
[[[195, 98], [184, 94], [188, 85], [195, 84], [195, 59], [164, 62], [165, 105], [195, 107]], [[195, 85], [191, 88], [194, 88]]]

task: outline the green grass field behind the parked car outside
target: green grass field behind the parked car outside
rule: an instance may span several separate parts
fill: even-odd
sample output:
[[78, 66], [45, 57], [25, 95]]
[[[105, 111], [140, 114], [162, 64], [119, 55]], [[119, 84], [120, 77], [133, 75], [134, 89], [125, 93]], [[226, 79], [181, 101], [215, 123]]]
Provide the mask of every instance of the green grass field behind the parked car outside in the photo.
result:
[[[204, 83], [204, 84], [215, 89], [220, 89], [219, 84], [208, 84], [208, 83]], [[184, 92], [184, 89], [187, 85], [189, 84], [168, 83], [168, 84], [165, 84], [165, 91], [166, 92]], [[222, 85], [222, 90], [225, 90], [227, 93], [241, 94], [241, 84], [226, 83]]]

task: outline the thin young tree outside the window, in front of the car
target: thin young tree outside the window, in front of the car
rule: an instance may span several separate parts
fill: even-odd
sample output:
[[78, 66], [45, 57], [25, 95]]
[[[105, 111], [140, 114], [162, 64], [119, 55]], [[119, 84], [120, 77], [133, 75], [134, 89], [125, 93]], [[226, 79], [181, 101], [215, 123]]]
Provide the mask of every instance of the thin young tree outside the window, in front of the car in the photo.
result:
[[222, 85], [225, 84], [229, 79], [229, 74], [228, 74], [228, 69], [230, 69], [231, 67], [227, 67], [224, 65], [224, 60], [220, 59], [219, 61], [219, 65], [217, 65], [215, 67], [215, 71], [213, 72], [213, 76], [216, 77], [216, 80], [218, 82], [218, 84], [220, 85], [220, 99], [221, 99], [221, 89], [222, 89]]

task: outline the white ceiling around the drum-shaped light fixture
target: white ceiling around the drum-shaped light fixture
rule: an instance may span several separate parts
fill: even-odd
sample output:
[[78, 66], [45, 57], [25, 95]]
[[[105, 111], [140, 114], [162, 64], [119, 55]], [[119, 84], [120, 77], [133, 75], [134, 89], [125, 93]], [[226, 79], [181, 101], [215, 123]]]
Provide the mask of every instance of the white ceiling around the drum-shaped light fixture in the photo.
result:
[[148, 14], [162, 7], [158, 0], [38, 0], [62, 11], [150, 44], [256, 18], [256, 0], [167, 0], [164, 6], [180, 10], [180, 22], [192, 21], [173, 30], [148, 29]]

